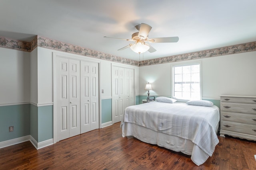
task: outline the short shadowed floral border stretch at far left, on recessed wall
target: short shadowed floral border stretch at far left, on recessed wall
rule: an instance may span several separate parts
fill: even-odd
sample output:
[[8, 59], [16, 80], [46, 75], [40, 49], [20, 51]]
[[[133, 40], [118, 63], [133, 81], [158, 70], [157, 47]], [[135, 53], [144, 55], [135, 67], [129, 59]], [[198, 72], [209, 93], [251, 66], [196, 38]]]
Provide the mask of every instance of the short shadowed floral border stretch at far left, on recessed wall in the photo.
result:
[[15, 40], [2, 36], [0, 36], [0, 47], [27, 52], [31, 51], [31, 44], [29, 42]]

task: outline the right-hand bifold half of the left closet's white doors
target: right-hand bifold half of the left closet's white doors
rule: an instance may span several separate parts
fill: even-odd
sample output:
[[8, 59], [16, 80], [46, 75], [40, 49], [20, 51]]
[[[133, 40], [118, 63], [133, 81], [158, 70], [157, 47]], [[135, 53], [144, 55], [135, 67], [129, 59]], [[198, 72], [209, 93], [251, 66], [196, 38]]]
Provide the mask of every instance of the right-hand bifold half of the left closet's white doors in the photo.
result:
[[98, 63], [81, 61], [81, 133], [99, 128]]

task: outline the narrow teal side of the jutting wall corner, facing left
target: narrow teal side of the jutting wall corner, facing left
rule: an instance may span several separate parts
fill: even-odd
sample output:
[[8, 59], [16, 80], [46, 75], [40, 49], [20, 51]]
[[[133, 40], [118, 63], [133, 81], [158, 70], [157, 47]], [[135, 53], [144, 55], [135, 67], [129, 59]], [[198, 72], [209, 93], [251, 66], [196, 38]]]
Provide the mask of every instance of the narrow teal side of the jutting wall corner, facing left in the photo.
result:
[[38, 108], [30, 104], [30, 135], [38, 141]]

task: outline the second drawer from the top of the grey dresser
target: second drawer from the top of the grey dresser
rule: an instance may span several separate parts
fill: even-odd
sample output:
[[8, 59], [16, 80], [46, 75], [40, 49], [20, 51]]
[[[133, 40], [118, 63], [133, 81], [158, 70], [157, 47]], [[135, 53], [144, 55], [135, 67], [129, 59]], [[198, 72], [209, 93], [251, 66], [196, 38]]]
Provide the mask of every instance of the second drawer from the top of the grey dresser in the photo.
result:
[[256, 104], [220, 102], [220, 110], [256, 114]]

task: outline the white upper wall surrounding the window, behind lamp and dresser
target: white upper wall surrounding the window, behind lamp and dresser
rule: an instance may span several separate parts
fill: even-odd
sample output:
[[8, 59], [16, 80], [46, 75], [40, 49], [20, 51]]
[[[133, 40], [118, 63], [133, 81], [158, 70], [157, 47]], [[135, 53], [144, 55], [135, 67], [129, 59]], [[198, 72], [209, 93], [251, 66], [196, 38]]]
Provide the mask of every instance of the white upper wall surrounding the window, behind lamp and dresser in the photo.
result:
[[[198, 60], [202, 61], [203, 99], [218, 100], [222, 94], [256, 95], [256, 51]], [[149, 81], [151, 95], [171, 96], [171, 64], [183, 63], [188, 61], [140, 66], [140, 94], [147, 94], [144, 88]]]

